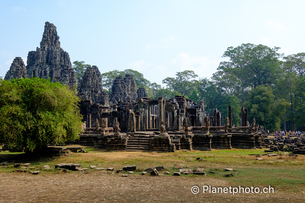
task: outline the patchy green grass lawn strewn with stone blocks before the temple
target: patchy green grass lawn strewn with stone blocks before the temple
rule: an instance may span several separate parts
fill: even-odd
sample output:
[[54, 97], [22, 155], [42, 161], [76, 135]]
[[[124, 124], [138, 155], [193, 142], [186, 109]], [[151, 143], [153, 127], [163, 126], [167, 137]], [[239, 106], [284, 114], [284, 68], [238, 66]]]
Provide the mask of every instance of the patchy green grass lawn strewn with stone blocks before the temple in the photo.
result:
[[[122, 178], [122, 174], [118, 174], [115, 171], [97, 171], [91, 169], [88, 172], [74, 172], [69, 171], [69, 173], [62, 173], [55, 169], [55, 165], [58, 163], [80, 163], [82, 168], [90, 168], [90, 165], [101, 164], [97, 167], [108, 168], [113, 167], [115, 170], [122, 169], [123, 166], [136, 165], [137, 170], [132, 174], [132, 177], [140, 178], [142, 181], [147, 181], [150, 175], [140, 176], [140, 173], [146, 168], [154, 168], [156, 166], [164, 166], [164, 171], [170, 172], [170, 175], [165, 175], [160, 172], [161, 176], [159, 178], [161, 182], [170, 180], [183, 180], [190, 181], [189, 183], [195, 183], [200, 186], [208, 180], [215, 184], [215, 186], [232, 186], [232, 187], [269, 187], [271, 185], [274, 187], [274, 193], [277, 195], [281, 194], [290, 195], [295, 197], [296, 194], [303, 195], [305, 201], [305, 156], [284, 156], [283, 153], [278, 153], [278, 156], [249, 156], [249, 154], [262, 154], [264, 149], [231, 149], [231, 150], [212, 150], [212, 151], [187, 151], [183, 152], [178, 150], [176, 152], [168, 153], [157, 153], [157, 152], [109, 152], [106, 150], [98, 150], [92, 147], [84, 147], [88, 153], [67, 153], [61, 154], [60, 156], [53, 157], [28, 157], [25, 153], [20, 152], [1, 152], [1, 161], [13, 161], [15, 163], [31, 163], [34, 166], [34, 170], [40, 170], [41, 175], [30, 177], [65, 177], [65, 176], [79, 176], [79, 174], [85, 174], [88, 177], [95, 177], [100, 175], [109, 175], [109, 178], [115, 180], [116, 178]], [[201, 157], [203, 161], [196, 160], [196, 158]], [[264, 160], [256, 160], [258, 157], [262, 157]], [[204, 168], [207, 176], [198, 175], [181, 175], [179, 177], [174, 177], [173, 172], [178, 172], [175, 166], [178, 164], [183, 164], [183, 168], [197, 169]], [[42, 166], [49, 165], [52, 170], [44, 170]], [[232, 168], [234, 171], [228, 172], [224, 168]], [[0, 168], [0, 174], [5, 177], [5, 174], [11, 176], [11, 174], [20, 174], [14, 172], [16, 168], [13, 166], [8, 166], [6, 168]], [[33, 171], [34, 171], [33, 170]], [[213, 171], [215, 173], [209, 173]], [[226, 177], [227, 173], [232, 173], [233, 177]], [[23, 176], [23, 175], [22, 175]], [[163, 181], [162, 181], [163, 180]], [[128, 183], [127, 183], [128, 184]], [[161, 184], [161, 183], [160, 183]], [[164, 182], [165, 184], [165, 182]], [[173, 183], [174, 184], [174, 183]], [[178, 186], [177, 186], [178, 187]], [[1, 188], [0, 188], [1, 189]], [[193, 194], [192, 194], [193, 195]], [[202, 194], [201, 194], [202, 195]], [[235, 195], [236, 196], [236, 195]], [[289, 196], [289, 197], [290, 197]], [[204, 197], [204, 196], [200, 196]], [[257, 196], [258, 197], [258, 196]], [[290, 200], [293, 199], [290, 197]], [[165, 199], [167, 198], [165, 194]], [[165, 200], [163, 198], [163, 200]], [[179, 196], [182, 198], [182, 196]], [[188, 197], [191, 198], [191, 197]], [[195, 198], [195, 197], [194, 197]], [[224, 201], [221, 196], [218, 202]], [[239, 202], [235, 197], [232, 197], [232, 202]], [[265, 201], [257, 199], [256, 202], [278, 202], [279, 196], [269, 196], [270, 200]], [[268, 199], [267, 198], [267, 199]], [[300, 197], [299, 197], [300, 198]], [[126, 198], [127, 201], [132, 200]], [[284, 198], [285, 199], [285, 198]], [[289, 199], [289, 198], [288, 198]], [[115, 199], [111, 199], [113, 201]], [[122, 199], [121, 199], [122, 200]], [[194, 201], [197, 199], [194, 199]], [[196, 202], [195, 201], [195, 202]], [[303, 201], [303, 200], [302, 200]], [[302, 202], [300, 201], [300, 202]], [[303, 202], [304, 202], [303, 201]], [[1, 200], [0, 200], [1, 202]], [[128, 202], [128, 201], [127, 201]], [[161, 201], [162, 202], [162, 201]], [[165, 201], [171, 202], [171, 201]], [[175, 201], [174, 201], [175, 202]], [[198, 202], [201, 202], [198, 200]], [[202, 201], [205, 202], [205, 201]], [[209, 201], [206, 201], [209, 202]], [[211, 201], [213, 202], [213, 201]], [[216, 201], [215, 201], [216, 202]], [[240, 201], [242, 202], [242, 201]], [[246, 201], [247, 202], [247, 201]], [[282, 201], [283, 202], [283, 201]], [[284, 201], [290, 202], [290, 201]], [[298, 201], [293, 201], [298, 202]]]

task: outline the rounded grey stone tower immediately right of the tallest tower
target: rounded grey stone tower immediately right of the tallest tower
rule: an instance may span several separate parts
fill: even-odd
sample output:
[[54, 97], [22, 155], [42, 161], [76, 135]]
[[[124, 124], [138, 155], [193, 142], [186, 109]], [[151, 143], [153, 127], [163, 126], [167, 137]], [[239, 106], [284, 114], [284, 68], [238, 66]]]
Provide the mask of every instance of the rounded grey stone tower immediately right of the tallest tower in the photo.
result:
[[78, 96], [109, 107], [109, 96], [103, 91], [102, 75], [97, 66], [88, 67], [78, 85]]

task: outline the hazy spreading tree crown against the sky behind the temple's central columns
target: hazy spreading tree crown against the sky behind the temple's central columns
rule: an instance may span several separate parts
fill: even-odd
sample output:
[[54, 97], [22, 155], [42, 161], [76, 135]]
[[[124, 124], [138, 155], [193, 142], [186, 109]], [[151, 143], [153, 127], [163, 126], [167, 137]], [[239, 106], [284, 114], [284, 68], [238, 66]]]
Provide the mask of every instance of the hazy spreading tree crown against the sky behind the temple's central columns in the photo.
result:
[[162, 83], [166, 84], [172, 91], [177, 91], [181, 95], [189, 96], [197, 85], [197, 80], [192, 79], [198, 77], [198, 75], [196, 75], [194, 71], [186, 70], [177, 72], [176, 76], [176, 78], [167, 77], [162, 80]]

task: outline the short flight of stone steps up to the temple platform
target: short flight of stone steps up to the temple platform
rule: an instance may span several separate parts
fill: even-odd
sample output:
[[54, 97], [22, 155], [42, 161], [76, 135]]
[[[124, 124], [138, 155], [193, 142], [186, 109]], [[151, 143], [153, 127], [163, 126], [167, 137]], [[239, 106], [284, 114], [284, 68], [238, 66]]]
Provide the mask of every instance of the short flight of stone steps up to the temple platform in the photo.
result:
[[127, 140], [126, 151], [149, 151], [150, 138], [149, 136], [134, 136]]

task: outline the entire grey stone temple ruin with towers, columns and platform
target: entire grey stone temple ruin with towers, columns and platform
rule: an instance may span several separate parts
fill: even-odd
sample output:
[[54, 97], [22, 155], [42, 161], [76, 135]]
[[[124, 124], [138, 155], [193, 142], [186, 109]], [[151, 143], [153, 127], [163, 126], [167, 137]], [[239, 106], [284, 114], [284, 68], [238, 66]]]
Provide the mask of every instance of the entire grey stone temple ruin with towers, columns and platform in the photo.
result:
[[87, 68], [81, 81], [77, 81], [69, 54], [60, 47], [56, 27], [49, 22], [45, 23], [40, 48], [29, 52], [27, 66], [16, 57], [5, 75], [5, 79], [27, 77], [50, 78], [71, 89], [77, 87], [80, 113], [87, 126], [79, 140], [66, 145], [159, 152], [270, 147], [270, 152], [305, 154], [303, 136], [269, 139], [255, 119], [249, 122], [244, 107], [240, 127], [236, 127], [231, 106], [223, 118], [217, 108], [211, 115], [206, 112], [203, 101], [196, 103], [184, 96], [170, 100], [148, 98], [144, 88], [137, 89], [131, 74], [116, 77], [111, 95], [103, 91], [102, 76], [96, 66]]

